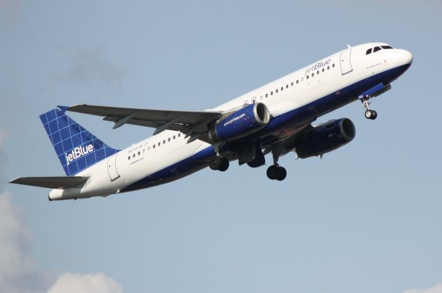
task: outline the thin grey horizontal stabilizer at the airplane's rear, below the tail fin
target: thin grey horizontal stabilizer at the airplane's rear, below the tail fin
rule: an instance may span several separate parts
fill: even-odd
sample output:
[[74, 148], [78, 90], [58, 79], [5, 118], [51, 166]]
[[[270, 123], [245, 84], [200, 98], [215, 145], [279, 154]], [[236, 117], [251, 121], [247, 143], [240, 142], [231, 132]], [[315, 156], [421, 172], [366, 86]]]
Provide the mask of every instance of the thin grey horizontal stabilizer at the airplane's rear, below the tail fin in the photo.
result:
[[19, 177], [9, 183], [38, 186], [40, 188], [66, 189], [84, 184], [88, 176], [56, 176], [56, 177]]

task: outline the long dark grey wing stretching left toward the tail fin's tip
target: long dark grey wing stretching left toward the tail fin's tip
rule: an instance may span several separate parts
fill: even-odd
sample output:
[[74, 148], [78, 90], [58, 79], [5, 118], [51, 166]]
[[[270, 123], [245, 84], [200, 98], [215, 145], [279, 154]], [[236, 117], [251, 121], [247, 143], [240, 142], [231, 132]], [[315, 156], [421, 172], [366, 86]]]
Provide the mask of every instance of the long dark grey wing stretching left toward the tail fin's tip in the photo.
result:
[[85, 104], [59, 107], [71, 112], [104, 117], [103, 120], [115, 122], [113, 125], [114, 129], [126, 123], [157, 128], [154, 134], [166, 129], [177, 130], [186, 134], [189, 132], [205, 132], [207, 125], [211, 123], [211, 121], [222, 116], [221, 112], [215, 111], [151, 110]]

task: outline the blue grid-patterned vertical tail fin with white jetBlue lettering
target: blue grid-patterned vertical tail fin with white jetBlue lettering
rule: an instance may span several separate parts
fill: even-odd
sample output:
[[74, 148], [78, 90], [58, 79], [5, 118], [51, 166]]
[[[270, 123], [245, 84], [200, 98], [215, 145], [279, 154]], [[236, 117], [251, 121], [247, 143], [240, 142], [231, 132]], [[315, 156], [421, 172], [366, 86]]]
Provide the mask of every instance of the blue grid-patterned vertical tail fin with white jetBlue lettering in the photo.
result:
[[67, 107], [58, 107], [41, 114], [40, 119], [66, 175], [74, 176], [119, 152], [68, 117], [65, 114]]

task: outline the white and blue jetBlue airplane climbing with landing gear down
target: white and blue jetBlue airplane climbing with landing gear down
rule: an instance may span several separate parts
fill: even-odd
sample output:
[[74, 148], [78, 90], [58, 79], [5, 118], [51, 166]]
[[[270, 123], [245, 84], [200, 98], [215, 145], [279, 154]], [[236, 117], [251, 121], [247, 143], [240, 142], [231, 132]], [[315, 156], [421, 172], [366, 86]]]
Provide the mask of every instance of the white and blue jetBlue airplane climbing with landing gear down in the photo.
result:
[[[391, 89], [412, 64], [407, 50], [387, 43], [349, 46], [204, 111], [149, 110], [78, 104], [40, 115], [66, 176], [19, 177], [10, 183], [52, 188], [50, 201], [108, 196], [169, 183], [209, 166], [226, 171], [229, 162], [251, 168], [273, 164], [267, 177], [287, 176], [278, 159], [320, 156], [354, 139], [348, 118], [314, 125], [323, 116], [361, 101], [365, 117], [378, 116], [371, 99]], [[104, 117], [113, 128], [125, 124], [155, 128], [153, 136], [116, 150], [68, 117], [67, 111]]]

